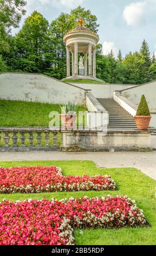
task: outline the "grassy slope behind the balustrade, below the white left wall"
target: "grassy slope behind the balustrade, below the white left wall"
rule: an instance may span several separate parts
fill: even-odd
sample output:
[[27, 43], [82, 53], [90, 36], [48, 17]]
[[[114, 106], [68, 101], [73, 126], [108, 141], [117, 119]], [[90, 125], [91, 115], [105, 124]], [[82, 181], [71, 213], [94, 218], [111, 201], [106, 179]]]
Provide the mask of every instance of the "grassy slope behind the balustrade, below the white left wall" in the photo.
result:
[[[0, 100], [0, 126], [49, 126], [49, 113], [61, 112], [59, 105]], [[86, 111], [80, 106], [77, 111]]]

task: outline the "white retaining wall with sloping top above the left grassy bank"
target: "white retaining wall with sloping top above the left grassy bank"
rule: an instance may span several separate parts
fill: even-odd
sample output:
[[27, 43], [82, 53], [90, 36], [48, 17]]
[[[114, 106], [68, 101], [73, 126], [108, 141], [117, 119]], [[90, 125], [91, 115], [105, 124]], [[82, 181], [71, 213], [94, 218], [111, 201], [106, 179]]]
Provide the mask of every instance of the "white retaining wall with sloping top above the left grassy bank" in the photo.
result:
[[0, 99], [48, 103], [85, 103], [84, 89], [40, 74], [0, 74]]

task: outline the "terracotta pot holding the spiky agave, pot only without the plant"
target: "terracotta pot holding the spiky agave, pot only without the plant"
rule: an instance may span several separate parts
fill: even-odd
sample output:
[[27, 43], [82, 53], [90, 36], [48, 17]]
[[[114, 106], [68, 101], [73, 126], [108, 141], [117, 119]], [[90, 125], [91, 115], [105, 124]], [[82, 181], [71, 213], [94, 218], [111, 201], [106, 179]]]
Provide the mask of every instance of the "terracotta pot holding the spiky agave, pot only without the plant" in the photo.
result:
[[64, 129], [70, 130], [75, 127], [77, 115], [74, 114], [60, 114], [62, 126]]

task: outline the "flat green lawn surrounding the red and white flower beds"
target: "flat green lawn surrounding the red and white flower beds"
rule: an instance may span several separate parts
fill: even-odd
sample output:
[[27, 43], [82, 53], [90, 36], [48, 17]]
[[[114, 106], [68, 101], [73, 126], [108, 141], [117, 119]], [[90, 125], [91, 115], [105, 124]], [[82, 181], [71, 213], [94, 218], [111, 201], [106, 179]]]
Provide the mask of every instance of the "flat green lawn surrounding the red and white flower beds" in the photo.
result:
[[90, 161], [35, 161], [35, 162], [0, 162], [2, 167], [11, 166], [61, 166], [64, 175], [96, 175], [109, 174], [116, 181], [118, 191], [80, 191], [80, 192], [54, 192], [40, 194], [0, 194], [0, 201], [6, 198], [11, 201], [32, 199], [57, 199], [69, 197], [101, 197], [111, 194], [124, 196], [127, 194], [137, 201], [140, 209], [144, 210], [146, 219], [151, 228], [122, 228], [122, 229], [90, 229], [75, 230], [77, 245], [155, 245], [156, 244], [156, 181], [149, 178], [135, 168], [99, 169]]

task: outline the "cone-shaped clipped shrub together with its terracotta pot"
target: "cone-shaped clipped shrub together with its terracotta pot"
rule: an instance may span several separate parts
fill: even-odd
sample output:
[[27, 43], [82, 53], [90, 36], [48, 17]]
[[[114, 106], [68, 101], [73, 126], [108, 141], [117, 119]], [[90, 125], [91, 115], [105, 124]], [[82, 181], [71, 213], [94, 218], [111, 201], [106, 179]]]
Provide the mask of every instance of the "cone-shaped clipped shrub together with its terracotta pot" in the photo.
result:
[[144, 95], [142, 95], [140, 104], [138, 106], [137, 114], [135, 115], [135, 123], [138, 130], [148, 130], [151, 121], [150, 109]]

